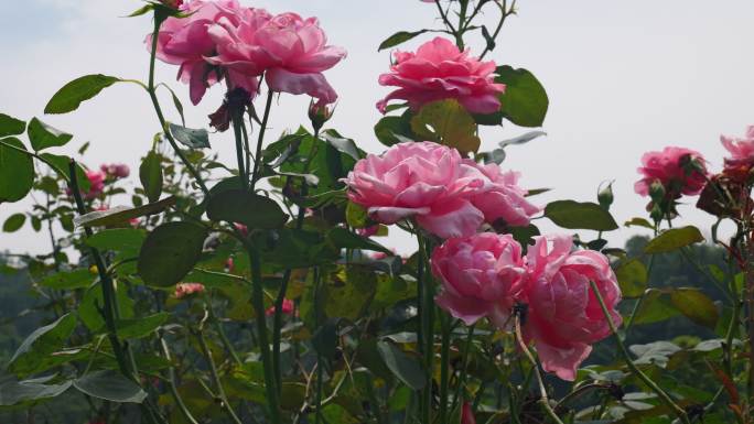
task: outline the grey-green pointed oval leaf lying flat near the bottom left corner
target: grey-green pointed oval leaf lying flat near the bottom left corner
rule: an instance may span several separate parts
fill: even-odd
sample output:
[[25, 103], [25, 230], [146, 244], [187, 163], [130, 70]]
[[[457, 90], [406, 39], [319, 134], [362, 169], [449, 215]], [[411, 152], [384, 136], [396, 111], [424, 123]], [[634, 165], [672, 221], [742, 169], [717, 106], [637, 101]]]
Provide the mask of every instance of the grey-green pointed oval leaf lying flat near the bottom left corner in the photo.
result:
[[82, 393], [121, 403], [141, 403], [147, 392], [121, 373], [106, 370], [89, 372], [73, 383]]

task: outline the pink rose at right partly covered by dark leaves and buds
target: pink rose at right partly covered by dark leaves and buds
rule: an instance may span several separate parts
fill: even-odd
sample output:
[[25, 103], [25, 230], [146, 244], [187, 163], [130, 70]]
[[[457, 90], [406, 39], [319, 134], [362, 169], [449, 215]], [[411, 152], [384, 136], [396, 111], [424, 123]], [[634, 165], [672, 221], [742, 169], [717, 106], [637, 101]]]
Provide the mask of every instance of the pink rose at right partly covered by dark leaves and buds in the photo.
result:
[[[696, 161], [703, 172], [692, 170], [689, 161]], [[653, 183], [659, 183], [671, 198], [697, 195], [707, 182], [704, 162], [701, 153], [685, 148], [668, 146], [661, 152], [644, 153], [642, 166], [637, 168], [642, 180], [636, 182], [634, 191], [648, 196]]]

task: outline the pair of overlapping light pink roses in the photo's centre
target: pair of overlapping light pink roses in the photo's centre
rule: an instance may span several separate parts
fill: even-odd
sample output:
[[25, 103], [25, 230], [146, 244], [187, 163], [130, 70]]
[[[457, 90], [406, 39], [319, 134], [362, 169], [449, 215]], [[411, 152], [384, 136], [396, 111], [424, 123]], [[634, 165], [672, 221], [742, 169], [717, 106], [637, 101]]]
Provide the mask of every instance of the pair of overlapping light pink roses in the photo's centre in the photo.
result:
[[483, 222], [526, 226], [540, 210], [516, 173], [480, 165], [433, 142], [405, 142], [360, 160], [345, 182], [352, 202], [378, 222], [412, 218], [441, 238], [470, 236]]

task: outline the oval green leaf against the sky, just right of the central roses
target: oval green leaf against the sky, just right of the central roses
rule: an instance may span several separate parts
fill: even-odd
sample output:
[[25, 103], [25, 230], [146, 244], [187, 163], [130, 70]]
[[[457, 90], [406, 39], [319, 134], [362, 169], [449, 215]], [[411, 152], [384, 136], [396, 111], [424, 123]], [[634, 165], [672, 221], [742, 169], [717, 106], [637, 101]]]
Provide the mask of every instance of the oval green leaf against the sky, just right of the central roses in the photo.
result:
[[618, 228], [613, 216], [595, 203], [557, 200], [545, 207], [545, 216], [568, 229], [612, 231]]

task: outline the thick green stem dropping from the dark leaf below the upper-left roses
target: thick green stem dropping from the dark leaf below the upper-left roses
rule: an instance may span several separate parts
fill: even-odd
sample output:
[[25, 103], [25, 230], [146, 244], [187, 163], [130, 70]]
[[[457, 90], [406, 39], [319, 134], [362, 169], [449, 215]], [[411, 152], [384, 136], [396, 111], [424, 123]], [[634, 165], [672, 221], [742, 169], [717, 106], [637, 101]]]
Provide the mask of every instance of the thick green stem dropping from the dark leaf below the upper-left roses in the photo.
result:
[[273, 424], [280, 424], [279, 391], [277, 389], [277, 382], [272, 370], [272, 361], [270, 360], [270, 345], [267, 335], [267, 317], [265, 315], [265, 289], [262, 287], [261, 263], [259, 262], [259, 252], [256, 250], [256, 248], [251, 244], [247, 244], [246, 248], [251, 265], [251, 302], [254, 305], [254, 311], [257, 315], [257, 336], [259, 337], [259, 350], [261, 355], [262, 367], [265, 369], [265, 389], [267, 390], [270, 420]]

